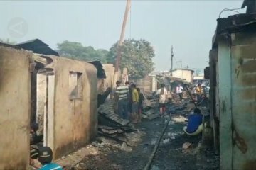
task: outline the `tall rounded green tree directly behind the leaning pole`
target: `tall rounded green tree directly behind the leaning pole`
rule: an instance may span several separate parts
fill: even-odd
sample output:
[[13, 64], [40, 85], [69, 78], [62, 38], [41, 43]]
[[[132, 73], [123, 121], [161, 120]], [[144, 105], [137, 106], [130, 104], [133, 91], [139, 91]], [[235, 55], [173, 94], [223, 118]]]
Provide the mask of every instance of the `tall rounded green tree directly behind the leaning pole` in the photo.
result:
[[[116, 42], [107, 54], [107, 62], [113, 63], [117, 57]], [[145, 77], [154, 70], [154, 49], [146, 40], [124, 40], [120, 67], [127, 67], [131, 77]]]

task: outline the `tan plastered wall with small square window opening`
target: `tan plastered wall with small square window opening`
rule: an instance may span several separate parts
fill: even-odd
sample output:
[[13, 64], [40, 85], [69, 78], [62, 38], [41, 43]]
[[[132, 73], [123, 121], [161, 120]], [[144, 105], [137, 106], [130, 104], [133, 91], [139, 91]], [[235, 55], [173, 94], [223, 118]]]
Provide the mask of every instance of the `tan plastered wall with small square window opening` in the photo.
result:
[[53, 140], [58, 158], [87, 145], [97, 135], [97, 69], [86, 62], [51, 58]]

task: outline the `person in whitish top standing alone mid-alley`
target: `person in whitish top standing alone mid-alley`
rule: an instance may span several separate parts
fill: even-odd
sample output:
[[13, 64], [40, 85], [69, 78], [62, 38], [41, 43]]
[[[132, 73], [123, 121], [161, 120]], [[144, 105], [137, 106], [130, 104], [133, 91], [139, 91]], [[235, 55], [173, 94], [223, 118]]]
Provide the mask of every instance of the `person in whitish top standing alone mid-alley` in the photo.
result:
[[168, 91], [166, 90], [164, 84], [161, 84], [161, 88], [156, 91], [156, 95], [159, 96], [160, 116], [163, 117], [163, 114], [166, 110], [166, 101], [168, 99]]

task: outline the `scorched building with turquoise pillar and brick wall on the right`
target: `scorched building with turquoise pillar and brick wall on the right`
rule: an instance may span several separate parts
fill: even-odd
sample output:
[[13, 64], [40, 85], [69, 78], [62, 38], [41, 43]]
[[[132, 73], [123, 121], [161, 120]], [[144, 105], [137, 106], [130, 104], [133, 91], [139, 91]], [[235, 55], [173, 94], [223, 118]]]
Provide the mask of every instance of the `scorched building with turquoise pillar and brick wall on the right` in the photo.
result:
[[210, 115], [220, 169], [256, 169], [256, 15], [217, 21], [210, 50]]

